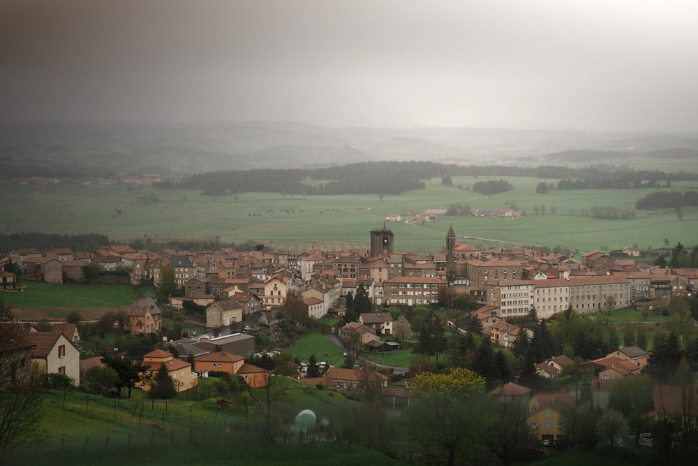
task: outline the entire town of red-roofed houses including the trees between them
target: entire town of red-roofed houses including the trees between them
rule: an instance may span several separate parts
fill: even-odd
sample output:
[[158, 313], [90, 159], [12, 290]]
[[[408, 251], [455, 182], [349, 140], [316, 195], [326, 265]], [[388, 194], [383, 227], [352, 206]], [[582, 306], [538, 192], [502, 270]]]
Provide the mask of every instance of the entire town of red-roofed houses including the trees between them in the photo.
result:
[[[292, 253], [263, 245], [246, 252], [149, 251], [125, 245], [94, 252], [13, 249], [2, 258], [0, 298], [8, 303], [11, 293], [31, 293], [26, 285], [32, 282], [89, 286], [98, 277], [117, 278], [133, 289], [154, 285], [160, 300], [140, 296], [106, 314], [105, 333], [165, 335], [164, 312], [184, 312], [189, 323], [205, 328], [198, 334], [179, 330], [160, 342], [158, 336], [149, 345], [141, 341], [133, 351], [94, 354], [87, 335], [94, 335], [94, 322], [21, 323], [22, 337], [13, 348], [21, 350], [21, 356], [15, 355], [21, 367], [36, 363], [52, 381], [49, 385], [63, 376], [64, 384], [88, 392], [117, 387], [119, 397], [122, 388], [128, 388], [129, 398], [135, 388], [153, 399], [181, 399], [202, 378], [216, 376], [237, 376], [254, 391], [272, 384], [270, 376], [283, 375], [400, 410], [425, 397], [424, 374], [448, 378], [464, 368], [482, 379], [491, 398], [525, 412], [529, 429], [500, 456], [504, 461], [517, 455], [537, 458], [558, 444], [584, 442], [589, 432], [570, 429], [570, 413], [593, 412], [599, 418], [622, 412], [614, 401], [621, 388], [651, 387], [642, 400], [634, 400], [644, 403], [646, 412], [623, 412], [621, 423], [607, 420], [616, 429], [632, 427], [628, 433], [638, 445], [662, 445], [666, 439], [653, 439], [659, 434], [651, 426], [680, 426], [696, 409], [687, 408], [685, 391], [671, 382], [683, 367], [681, 356], [691, 367], [698, 363], [698, 268], [679, 266], [690, 262], [695, 251], [679, 243], [662, 267], [637, 261], [637, 247], [623, 249], [626, 259], [597, 251], [575, 259], [523, 247], [480, 251], [456, 239], [450, 228], [440, 252], [400, 252], [395, 249], [399, 238], [384, 224], [370, 231], [369, 248], [346, 251], [317, 246]], [[623, 309], [638, 310], [644, 322], [609, 324], [611, 312]], [[673, 320], [653, 319], [668, 310]], [[681, 320], [682, 313], [687, 319]], [[587, 319], [598, 315], [606, 317]], [[327, 319], [334, 324], [327, 325]], [[258, 333], [283, 321], [332, 338], [344, 361], [318, 362], [322, 354], [290, 361], [288, 342]], [[565, 333], [563, 321], [577, 330]], [[676, 333], [674, 323], [686, 321], [690, 327]], [[390, 359], [406, 349], [414, 353], [408, 364], [384, 363], [386, 354]], [[105, 368], [114, 370], [113, 379], [103, 378]], [[260, 414], [269, 416], [272, 430], [272, 414]], [[614, 436], [617, 431], [611, 445]]]

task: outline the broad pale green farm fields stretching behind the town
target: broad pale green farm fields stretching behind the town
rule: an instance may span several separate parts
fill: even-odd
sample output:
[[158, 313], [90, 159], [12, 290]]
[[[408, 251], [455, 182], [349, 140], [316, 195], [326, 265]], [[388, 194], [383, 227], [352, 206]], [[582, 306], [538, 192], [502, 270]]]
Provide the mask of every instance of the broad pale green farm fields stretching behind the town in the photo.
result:
[[[695, 245], [698, 207], [685, 207], [683, 219], [673, 209], [637, 211], [630, 219], [595, 219], [581, 215], [594, 205], [634, 208], [637, 200], [660, 189], [551, 191], [535, 194], [535, 178], [506, 178], [514, 189], [481, 196], [471, 187], [484, 178], [454, 178], [454, 187], [426, 180], [426, 189], [400, 196], [283, 196], [276, 193], [244, 193], [211, 198], [193, 190], [159, 190], [144, 187], [128, 193], [125, 186], [59, 184], [50, 187], [5, 184], [0, 194], [0, 226], [4, 233], [103, 233], [111, 240], [197, 238], [222, 244], [252, 240], [267, 247], [300, 251], [323, 244], [330, 249], [368, 247], [369, 231], [383, 226], [387, 214], [401, 214], [403, 221], [388, 223], [395, 249], [407, 252], [440, 251], [452, 225], [460, 242], [476, 247], [536, 245], [570, 247], [590, 251], [608, 246], [619, 249], [637, 244], [641, 249], [663, 247], [681, 241]], [[553, 181], [553, 180], [549, 180]], [[698, 184], [676, 183], [661, 190], [683, 191]], [[154, 194], [159, 201], [142, 203], [138, 197]], [[504, 209], [515, 202], [527, 212], [518, 219], [454, 217], [406, 224], [407, 209], [447, 208], [468, 202], [472, 207]], [[546, 214], [533, 213], [544, 205]], [[553, 210], [556, 213], [553, 214]], [[119, 213], [120, 212], [120, 213]]]

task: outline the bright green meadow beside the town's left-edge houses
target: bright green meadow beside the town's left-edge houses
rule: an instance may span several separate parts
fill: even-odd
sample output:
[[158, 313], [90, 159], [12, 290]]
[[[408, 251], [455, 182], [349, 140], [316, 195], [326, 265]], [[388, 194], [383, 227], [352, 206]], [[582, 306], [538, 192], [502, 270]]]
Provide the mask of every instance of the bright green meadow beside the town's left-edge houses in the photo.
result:
[[[15, 307], [73, 307], [77, 310], [123, 307], [138, 298], [138, 292], [128, 285], [49, 284], [25, 281], [22, 282], [22, 286], [26, 286], [22, 293], [4, 291], [0, 296], [10, 306]], [[65, 317], [63, 314], [65, 313], [62, 311], [57, 312], [53, 317]]]

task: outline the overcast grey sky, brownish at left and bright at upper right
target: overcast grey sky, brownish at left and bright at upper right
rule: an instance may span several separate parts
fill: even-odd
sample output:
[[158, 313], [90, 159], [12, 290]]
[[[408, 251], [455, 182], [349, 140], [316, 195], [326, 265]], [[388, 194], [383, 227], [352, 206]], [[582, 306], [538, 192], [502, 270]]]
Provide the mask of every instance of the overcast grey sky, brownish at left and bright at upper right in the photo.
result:
[[0, 0], [0, 120], [698, 130], [698, 2]]

